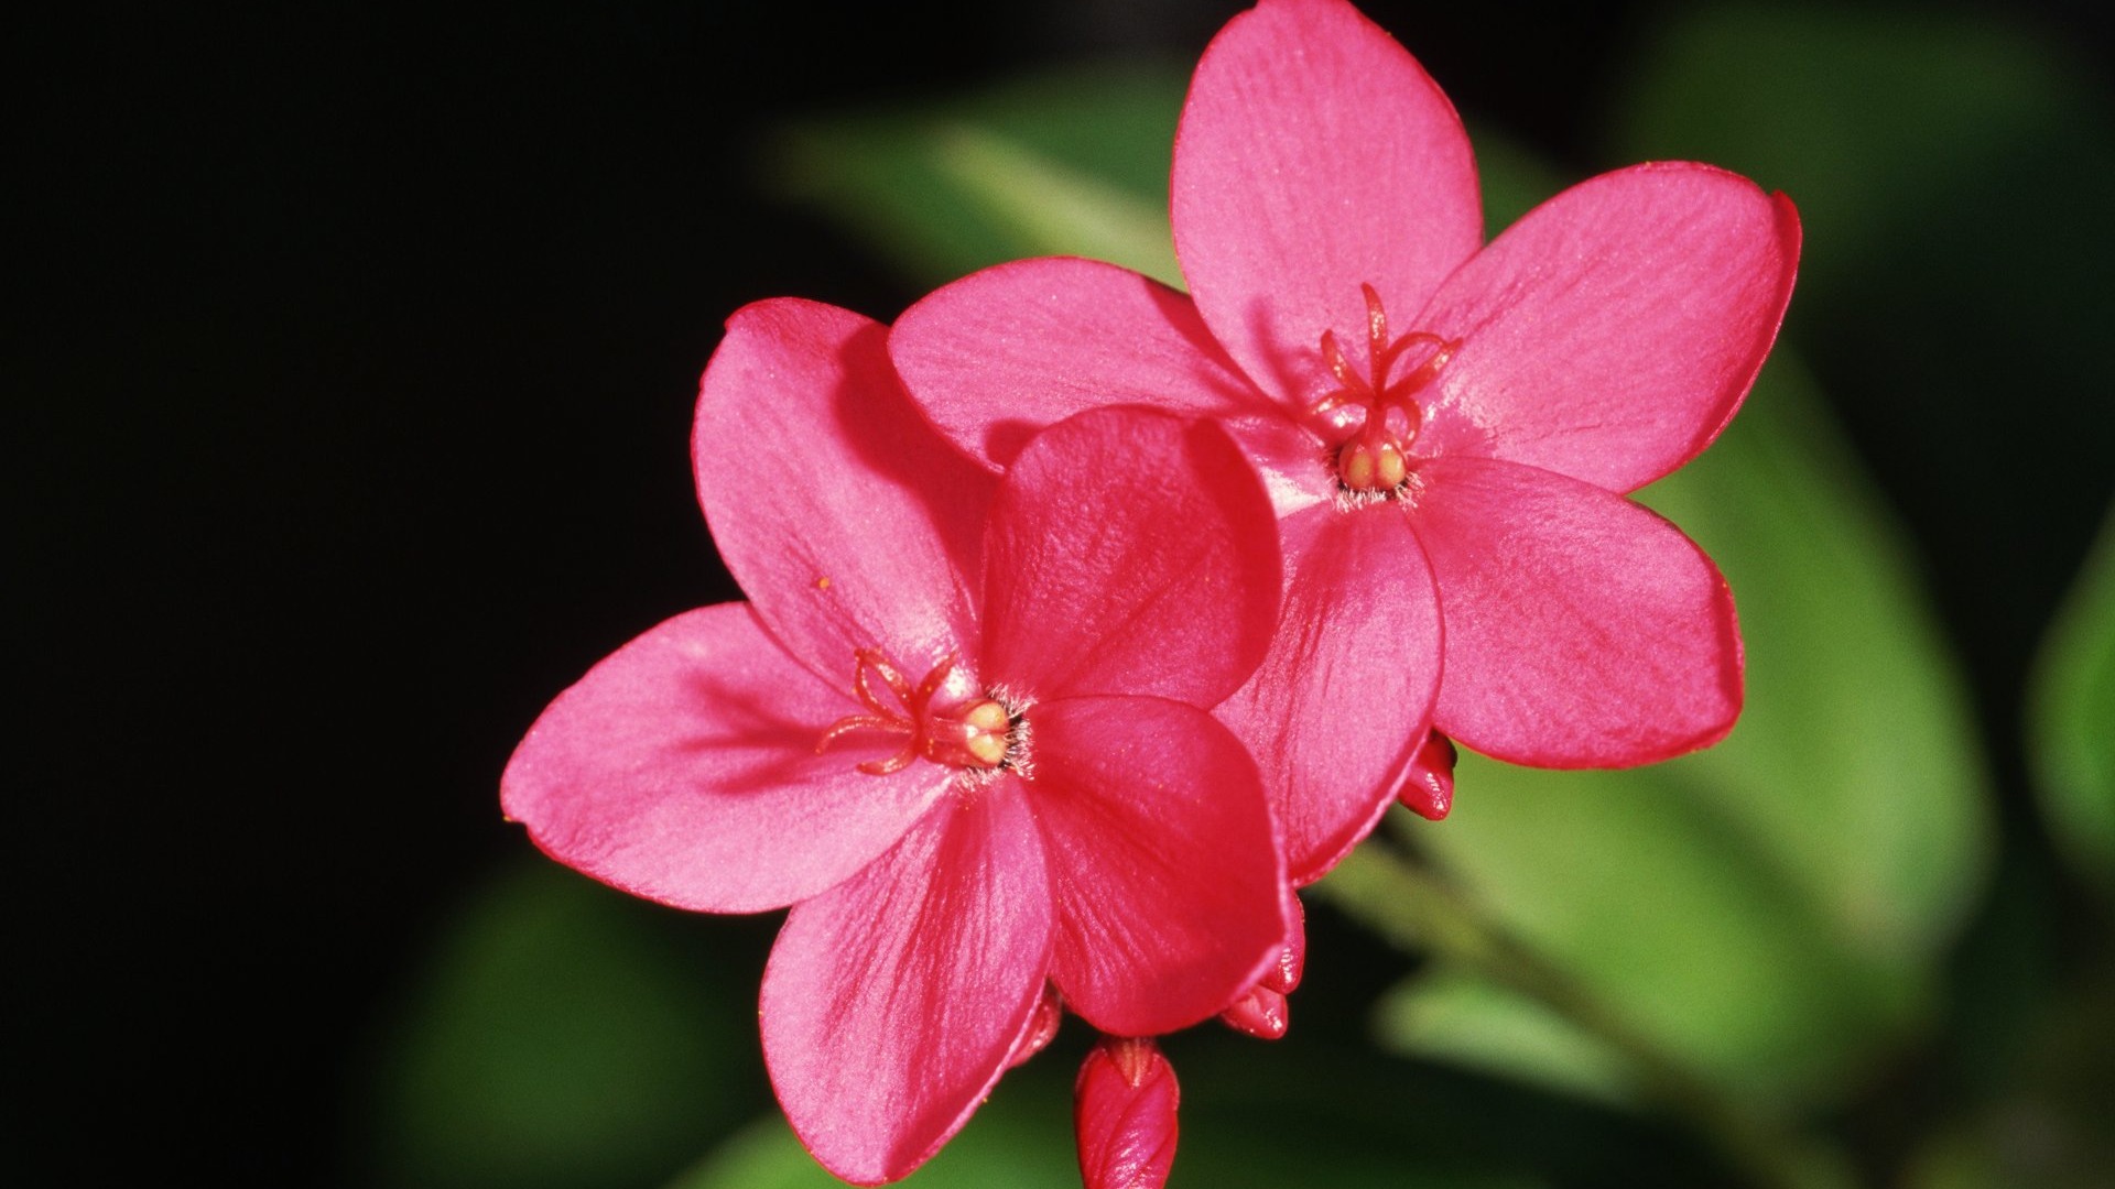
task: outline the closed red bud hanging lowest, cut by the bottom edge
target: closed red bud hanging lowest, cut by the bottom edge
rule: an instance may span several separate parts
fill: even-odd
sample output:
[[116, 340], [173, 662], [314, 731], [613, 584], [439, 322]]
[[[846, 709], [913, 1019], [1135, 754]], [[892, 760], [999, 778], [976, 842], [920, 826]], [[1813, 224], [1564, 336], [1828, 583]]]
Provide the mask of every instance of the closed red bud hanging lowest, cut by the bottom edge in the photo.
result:
[[1176, 1159], [1176, 1071], [1151, 1037], [1102, 1037], [1072, 1090], [1085, 1189], [1161, 1189]]

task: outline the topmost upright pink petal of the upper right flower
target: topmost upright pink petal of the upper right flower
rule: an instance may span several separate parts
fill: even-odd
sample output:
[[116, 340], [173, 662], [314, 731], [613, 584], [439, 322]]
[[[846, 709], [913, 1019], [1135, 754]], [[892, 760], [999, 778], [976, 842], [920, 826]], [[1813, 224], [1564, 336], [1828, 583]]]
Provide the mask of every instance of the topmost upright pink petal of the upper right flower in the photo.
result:
[[1360, 286], [1415, 313], [1483, 245], [1483, 207], [1461, 118], [1394, 38], [1341, 0], [1265, 0], [1197, 66], [1174, 231], [1218, 341], [1305, 400], [1322, 332], [1362, 341]]

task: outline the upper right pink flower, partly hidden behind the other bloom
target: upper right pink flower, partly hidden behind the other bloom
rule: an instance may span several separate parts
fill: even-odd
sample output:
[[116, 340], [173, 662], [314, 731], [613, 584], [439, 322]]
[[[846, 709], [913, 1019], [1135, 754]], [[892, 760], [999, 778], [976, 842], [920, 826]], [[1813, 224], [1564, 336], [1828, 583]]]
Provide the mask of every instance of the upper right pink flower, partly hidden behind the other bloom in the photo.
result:
[[[1284, 620], [1218, 715], [1263, 766], [1294, 880], [1373, 827], [1428, 728], [1552, 768], [1732, 728], [1726, 582], [1624, 493], [1753, 383], [1798, 258], [1783, 195], [1637, 165], [1485, 245], [1453, 106], [1341, 0], [1265, 0], [1218, 34], [1172, 188], [1191, 296], [1003, 264], [912, 307], [890, 355], [994, 468], [1038, 425], [1134, 402], [1216, 417], [1265, 470]], [[1451, 779], [1434, 764], [1423, 812]]]

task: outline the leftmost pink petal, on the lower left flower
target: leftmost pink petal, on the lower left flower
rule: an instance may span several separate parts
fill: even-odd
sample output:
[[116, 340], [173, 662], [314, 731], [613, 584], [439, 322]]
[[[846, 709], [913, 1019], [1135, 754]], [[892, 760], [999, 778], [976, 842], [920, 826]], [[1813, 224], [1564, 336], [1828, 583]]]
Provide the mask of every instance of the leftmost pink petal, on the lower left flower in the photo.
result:
[[537, 846], [632, 895], [706, 912], [810, 897], [886, 850], [948, 772], [816, 755], [859, 711], [749, 607], [677, 616], [620, 647], [529, 728], [499, 800]]

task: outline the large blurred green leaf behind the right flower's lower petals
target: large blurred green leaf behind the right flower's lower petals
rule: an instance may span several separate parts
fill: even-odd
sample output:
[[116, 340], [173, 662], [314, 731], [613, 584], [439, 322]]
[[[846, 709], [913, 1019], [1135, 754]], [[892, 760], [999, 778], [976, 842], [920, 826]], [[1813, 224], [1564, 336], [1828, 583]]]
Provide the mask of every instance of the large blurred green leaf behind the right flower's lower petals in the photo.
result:
[[1933, 990], [1984, 865], [1961, 677], [1798, 366], [1643, 495], [1728, 575], [1747, 709], [1626, 772], [1464, 757], [1413, 838], [1665, 1049], [1764, 1102], [1840, 1094]]

